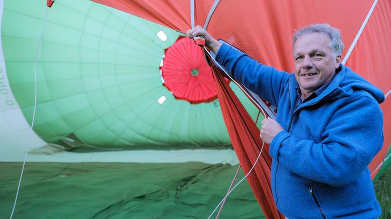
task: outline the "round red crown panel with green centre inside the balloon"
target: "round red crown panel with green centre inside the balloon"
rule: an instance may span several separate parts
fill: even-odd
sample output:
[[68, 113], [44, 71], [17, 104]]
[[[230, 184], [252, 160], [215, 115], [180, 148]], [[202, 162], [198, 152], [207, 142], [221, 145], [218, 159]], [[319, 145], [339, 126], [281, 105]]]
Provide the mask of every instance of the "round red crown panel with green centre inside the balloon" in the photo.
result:
[[179, 38], [165, 51], [160, 67], [163, 85], [177, 99], [192, 104], [211, 102], [217, 98], [212, 71], [202, 48], [189, 38]]

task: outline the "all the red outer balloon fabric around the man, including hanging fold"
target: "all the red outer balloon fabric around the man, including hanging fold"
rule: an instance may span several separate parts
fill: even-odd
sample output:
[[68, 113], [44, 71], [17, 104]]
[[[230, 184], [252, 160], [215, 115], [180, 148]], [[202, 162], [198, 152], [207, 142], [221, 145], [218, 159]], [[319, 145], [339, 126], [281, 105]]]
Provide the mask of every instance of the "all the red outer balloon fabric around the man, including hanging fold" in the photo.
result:
[[[171, 29], [186, 32], [191, 28], [190, 3], [177, 4], [175, 0], [94, 0], [94, 2], [119, 9]], [[214, 0], [200, 0], [194, 3], [194, 25], [203, 25], [214, 4]], [[295, 29], [316, 23], [328, 23], [341, 30], [346, 46], [346, 63], [384, 94], [391, 91], [391, 3], [389, 1], [221, 1], [209, 22], [207, 31], [215, 38], [223, 39], [263, 64], [292, 72], [292, 47], [290, 36]], [[348, 52], [349, 51], [349, 52]], [[214, 71], [217, 72], [215, 69]], [[234, 108], [229, 99], [234, 96], [215, 74], [218, 97], [221, 101], [225, 123], [245, 171], [249, 170], [261, 145], [259, 130], [245, 114], [233, 116]], [[384, 145], [369, 165], [372, 178], [383, 163], [391, 143], [391, 103], [390, 97], [380, 105], [384, 113]], [[230, 112], [230, 113], [228, 113]], [[242, 116], [242, 119], [238, 119]], [[246, 118], [247, 117], [247, 118]], [[363, 120], [368, 118], [362, 118]], [[242, 120], [242, 121], [240, 121]], [[243, 122], [244, 121], [244, 122]], [[252, 127], [252, 128], [251, 128]], [[251, 133], [248, 134], [247, 132]], [[244, 134], [247, 133], [247, 134]], [[251, 138], [250, 138], [250, 136]], [[249, 138], [251, 140], [249, 140]], [[248, 141], [252, 141], [249, 143]], [[265, 148], [267, 149], [267, 147]], [[267, 150], [266, 150], [267, 151]], [[266, 152], [265, 151], [265, 152]], [[245, 152], [243, 154], [243, 152]], [[269, 171], [267, 153], [263, 153], [255, 173], [248, 178], [265, 215], [268, 218], [282, 216], [269, 199]], [[389, 162], [388, 162], [389, 163]], [[389, 165], [389, 164], [388, 164]], [[262, 173], [261, 173], [262, 172]], [[252, 183], [257, 178], [258, 182]]]

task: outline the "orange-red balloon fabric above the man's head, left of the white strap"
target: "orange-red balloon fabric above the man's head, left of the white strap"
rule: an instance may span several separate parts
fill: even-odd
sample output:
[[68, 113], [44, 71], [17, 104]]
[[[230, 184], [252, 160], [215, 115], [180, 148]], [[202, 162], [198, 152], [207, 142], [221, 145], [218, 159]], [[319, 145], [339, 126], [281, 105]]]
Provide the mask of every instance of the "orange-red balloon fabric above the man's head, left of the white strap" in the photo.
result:
[[[186, 32], [190, 25], [189, 1], [93, 0], [145, 18], [174, 30]], [[215, 0], [196, 0], [195, 25], [203, 26]], [[329, 23], [342, 30], [350, 46], [372, 1], [221, 1], [207, 30], [264, 64], [293, 71], [290, 36], [299, 26]], [[267, 52], [265, 52], [267, 51]], [[346, 51], [345, 51], [346, 52]]]

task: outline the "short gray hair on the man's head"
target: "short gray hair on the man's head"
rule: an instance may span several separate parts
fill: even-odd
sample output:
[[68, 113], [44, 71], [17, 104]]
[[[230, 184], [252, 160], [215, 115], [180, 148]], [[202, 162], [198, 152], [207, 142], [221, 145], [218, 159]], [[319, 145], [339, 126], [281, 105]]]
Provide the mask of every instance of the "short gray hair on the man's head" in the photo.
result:
[[330, 37], [330, 48], [333, 52], [333, 55], [337, 57], [337, 55], [342, 54], [344, 46], [342, 43], [341, 33], [337, 28], [333, 28], [329, 24], [313, 24], [305, 28], [295, 30], [294, 35], [292, 35], [292, 47], [295, 46], [295, 43], [299, 37], [309, 33], [327, 34]]

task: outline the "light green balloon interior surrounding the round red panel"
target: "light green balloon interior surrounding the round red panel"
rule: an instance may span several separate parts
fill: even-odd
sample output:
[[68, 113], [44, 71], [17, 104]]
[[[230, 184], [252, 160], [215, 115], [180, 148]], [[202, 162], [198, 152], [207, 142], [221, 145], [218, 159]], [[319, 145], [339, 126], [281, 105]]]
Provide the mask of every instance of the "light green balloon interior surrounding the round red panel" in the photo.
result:
[[[30, 125], [44, 14], [42, 1], [4, 4], [7, 75]], [[38, 49], [34, 131], [79, 151], [229, 148], [218, 100], [190, 104], [162, 85], [164, 49], [177, 38], [173, 30], [106, 6], [56, 1]]]

